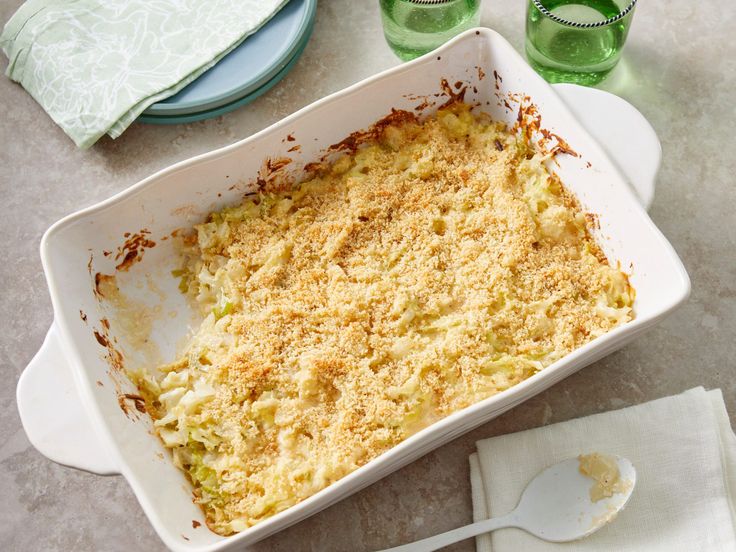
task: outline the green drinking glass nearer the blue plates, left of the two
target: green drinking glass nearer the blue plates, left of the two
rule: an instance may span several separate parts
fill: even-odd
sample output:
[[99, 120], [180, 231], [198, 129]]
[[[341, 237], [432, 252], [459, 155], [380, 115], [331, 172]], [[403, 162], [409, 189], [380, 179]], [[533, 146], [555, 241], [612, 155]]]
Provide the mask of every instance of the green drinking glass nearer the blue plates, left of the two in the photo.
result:
[[404, 61], [480, 23], [480, 0], [381, 0], [386, 42]]

